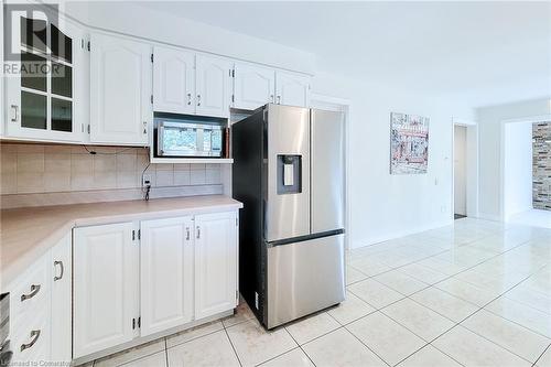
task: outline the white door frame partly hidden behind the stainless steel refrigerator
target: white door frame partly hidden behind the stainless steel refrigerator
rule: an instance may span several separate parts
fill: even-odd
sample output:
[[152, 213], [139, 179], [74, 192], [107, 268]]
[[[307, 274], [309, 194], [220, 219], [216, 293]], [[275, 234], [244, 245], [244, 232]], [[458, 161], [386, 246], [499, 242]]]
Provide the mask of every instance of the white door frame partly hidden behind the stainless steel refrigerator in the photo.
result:
[[350, 109], [349, 99], [321, 95], [316, 93], [310, 94], [310, 107], [320, 108], [333, 111], [342, 111], [345, 114], [345, 249], [350, 249], [352, 244], [352, 226], [350, 226]]

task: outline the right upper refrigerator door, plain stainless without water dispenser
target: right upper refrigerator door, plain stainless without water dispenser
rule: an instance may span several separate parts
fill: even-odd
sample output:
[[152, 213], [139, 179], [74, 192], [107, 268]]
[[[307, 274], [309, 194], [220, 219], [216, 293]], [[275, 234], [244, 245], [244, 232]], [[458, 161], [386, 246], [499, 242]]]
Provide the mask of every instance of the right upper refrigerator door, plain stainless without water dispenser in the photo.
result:
[[312, 233], [344, 227], [344, 115], [312, 109]]

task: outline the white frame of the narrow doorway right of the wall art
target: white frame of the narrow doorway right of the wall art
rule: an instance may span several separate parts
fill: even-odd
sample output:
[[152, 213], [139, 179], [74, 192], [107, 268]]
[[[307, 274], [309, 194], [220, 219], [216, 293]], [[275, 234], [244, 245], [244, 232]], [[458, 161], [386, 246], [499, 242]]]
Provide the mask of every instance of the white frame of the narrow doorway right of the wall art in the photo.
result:
[[452, 183], [451, 183], [451, 219], [454, 220], [455, 214], [455, 127], [466, 128], [466, 151], [467, 154], [471, 152], [474, 156], [471, 160], [466, 159], [466, 215], [467, 217], [477, 218], [478, 217], [478, 154], [479, 154], [479, 134], [478, 134], [478, 123], [474, 120], [452, 118]]

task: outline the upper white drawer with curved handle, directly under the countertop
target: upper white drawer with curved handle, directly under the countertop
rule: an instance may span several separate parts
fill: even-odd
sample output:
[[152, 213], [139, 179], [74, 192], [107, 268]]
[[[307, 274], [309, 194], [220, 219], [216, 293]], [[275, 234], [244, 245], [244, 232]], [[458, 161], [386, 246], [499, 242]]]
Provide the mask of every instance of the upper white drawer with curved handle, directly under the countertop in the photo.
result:
[[50, 258], [44, 256], [10, 287], [10, 328], [50, 311]]

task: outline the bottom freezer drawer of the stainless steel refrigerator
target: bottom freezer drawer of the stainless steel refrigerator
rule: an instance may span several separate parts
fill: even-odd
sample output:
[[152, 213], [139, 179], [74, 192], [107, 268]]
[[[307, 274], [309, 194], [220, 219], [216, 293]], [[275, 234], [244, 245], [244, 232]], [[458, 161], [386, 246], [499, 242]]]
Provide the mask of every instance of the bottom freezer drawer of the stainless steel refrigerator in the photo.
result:
[[268, 328], [344, 301], [344, 235], [269, 247], [267, 256]]

